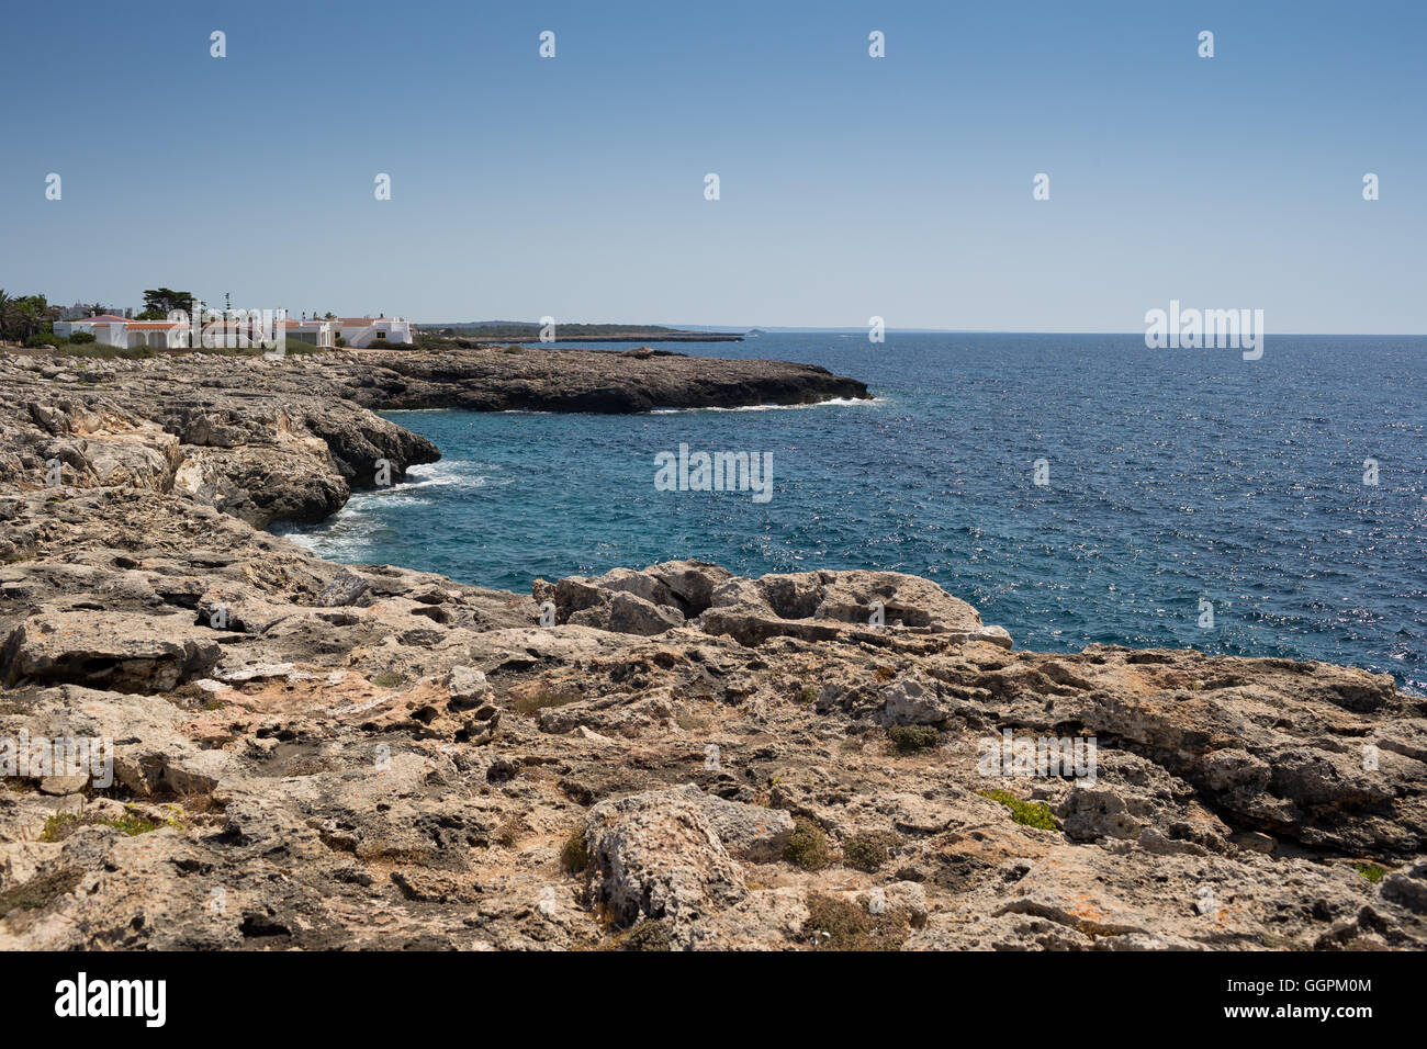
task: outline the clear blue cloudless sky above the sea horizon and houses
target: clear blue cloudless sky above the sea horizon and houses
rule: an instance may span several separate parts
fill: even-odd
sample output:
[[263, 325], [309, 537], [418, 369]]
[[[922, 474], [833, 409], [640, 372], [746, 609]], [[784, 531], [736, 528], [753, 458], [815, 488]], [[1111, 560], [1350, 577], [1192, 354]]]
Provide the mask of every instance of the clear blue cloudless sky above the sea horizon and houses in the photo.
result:
[[993, 331], [1180, 300], [1427, 331], [1417, 0], [87, 0], [13, 4], [6, 36], [9, 294]]

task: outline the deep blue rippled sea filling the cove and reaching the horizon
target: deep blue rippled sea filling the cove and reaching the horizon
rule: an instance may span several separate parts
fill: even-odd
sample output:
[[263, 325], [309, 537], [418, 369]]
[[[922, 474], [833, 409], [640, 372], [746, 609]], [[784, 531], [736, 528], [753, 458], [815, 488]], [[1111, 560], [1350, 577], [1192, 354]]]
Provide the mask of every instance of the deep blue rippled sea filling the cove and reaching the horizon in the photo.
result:
[[[522, 592], [669, 558], [745, 575], [895, 569], [970, 601], [1019, 648], [1316, 658], [1427, 691], [1427, 338], [1270, 334], [1257, 361], [1147, 350], [1142, 335], [778, 333], [675, 348], [821, 364], [876, 400], [390, 412], [442, 461], [294, 538]], [[681, 442], [771, 452], [772, 498], [656, 491], [655, 455]]]

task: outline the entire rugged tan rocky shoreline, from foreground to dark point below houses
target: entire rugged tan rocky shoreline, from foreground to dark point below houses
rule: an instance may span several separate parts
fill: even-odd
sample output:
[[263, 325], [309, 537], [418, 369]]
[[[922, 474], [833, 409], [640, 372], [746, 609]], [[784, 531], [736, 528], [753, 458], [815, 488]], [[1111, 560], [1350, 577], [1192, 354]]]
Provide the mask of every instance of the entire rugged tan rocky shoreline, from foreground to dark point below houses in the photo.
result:
[[[0, 759], [21, 734], [113, 741], [113, 784], [0, 781], [0, 948], [1427, 943], [1427, 701], [1390, 675], [1022, 652], [895, 572], [675, 561], [518, 595], [263, 531], [438, 458], [374, 408], [853, 380], [658, 353], [0, 357]], [[1092, 775], [1035, 775], [1047, 739]]]

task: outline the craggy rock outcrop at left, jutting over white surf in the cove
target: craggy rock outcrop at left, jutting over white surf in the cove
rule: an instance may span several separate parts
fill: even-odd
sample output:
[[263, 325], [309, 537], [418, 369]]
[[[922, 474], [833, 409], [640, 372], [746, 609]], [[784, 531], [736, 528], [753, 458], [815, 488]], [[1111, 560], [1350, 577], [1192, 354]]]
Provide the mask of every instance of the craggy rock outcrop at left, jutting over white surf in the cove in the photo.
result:
[[60, 360], [0, 357], [0, 468], [21, 490], [131, 487], [263, 527], [440, 458], [311, 358]]

